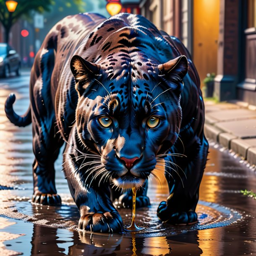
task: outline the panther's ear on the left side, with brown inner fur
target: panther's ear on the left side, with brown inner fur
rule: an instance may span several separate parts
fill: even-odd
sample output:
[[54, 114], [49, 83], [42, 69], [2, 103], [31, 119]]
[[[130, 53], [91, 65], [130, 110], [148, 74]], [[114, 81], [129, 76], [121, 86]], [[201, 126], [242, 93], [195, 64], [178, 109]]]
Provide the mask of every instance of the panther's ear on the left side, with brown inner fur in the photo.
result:
[[100, 65], [91, 63], [78, 55], [72, 57], [70, 68], [76, 81], [76, 90], [80, 96], [100, 72]]

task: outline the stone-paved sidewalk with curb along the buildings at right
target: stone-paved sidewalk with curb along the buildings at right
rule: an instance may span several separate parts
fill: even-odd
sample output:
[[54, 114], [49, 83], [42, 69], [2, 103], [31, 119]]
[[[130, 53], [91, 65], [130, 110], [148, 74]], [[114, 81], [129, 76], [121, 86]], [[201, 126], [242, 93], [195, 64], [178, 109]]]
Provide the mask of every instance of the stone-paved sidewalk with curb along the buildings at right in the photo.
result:
[[206, 100], [205, 113], [206, 137], [256, 165], [256, 107], [239, 101]]

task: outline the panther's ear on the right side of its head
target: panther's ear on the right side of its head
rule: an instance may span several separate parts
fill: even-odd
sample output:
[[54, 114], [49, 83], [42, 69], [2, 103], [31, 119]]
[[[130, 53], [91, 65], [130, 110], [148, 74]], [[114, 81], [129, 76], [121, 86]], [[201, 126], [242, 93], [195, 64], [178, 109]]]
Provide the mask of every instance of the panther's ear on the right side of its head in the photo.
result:
[[188, 60], [185, 55], [181, 55], [164, 64], [158, 65], [160, 76], [166, 76], [166, 79], [172, 81], [181, 81], [188, 72]]

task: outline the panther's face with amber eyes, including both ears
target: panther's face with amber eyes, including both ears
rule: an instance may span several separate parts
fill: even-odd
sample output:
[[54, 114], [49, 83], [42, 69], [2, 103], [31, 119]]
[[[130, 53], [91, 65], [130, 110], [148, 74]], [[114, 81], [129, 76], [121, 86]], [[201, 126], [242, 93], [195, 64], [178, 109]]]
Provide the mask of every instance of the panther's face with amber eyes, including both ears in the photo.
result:
[[78, 56], [71, 60], [79, 139], [101, 155], [102, 166], [121, 188], [143, 185], [157, 158], [178, 138], [187, 60], [180, 56], [152, 67], [151, 79], [122, 73], [113, 81], [102, 66]]

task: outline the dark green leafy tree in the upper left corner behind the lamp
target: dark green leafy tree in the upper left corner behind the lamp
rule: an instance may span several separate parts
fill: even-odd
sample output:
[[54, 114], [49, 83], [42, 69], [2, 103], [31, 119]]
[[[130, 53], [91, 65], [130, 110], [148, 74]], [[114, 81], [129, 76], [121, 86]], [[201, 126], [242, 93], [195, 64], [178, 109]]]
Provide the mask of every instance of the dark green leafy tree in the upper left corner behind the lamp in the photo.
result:
[[[5, 0], [0, 0], [0, 22], [5, 29], [5, 42], [9, 42], [10, 29], [19, 18], [31, 18], [33, 12], [44, 13], [52, 10], [54, 0], [16, 0], [18, 2], [15, 12], [10, 13], [5, 5]], [[63, 5], [69, 5], [68, 0], [62, 0]], [[72, 1], [71, 1], [72, 2]], [[73, 0], [76, 5], [81, 5], [83, 0]]]

